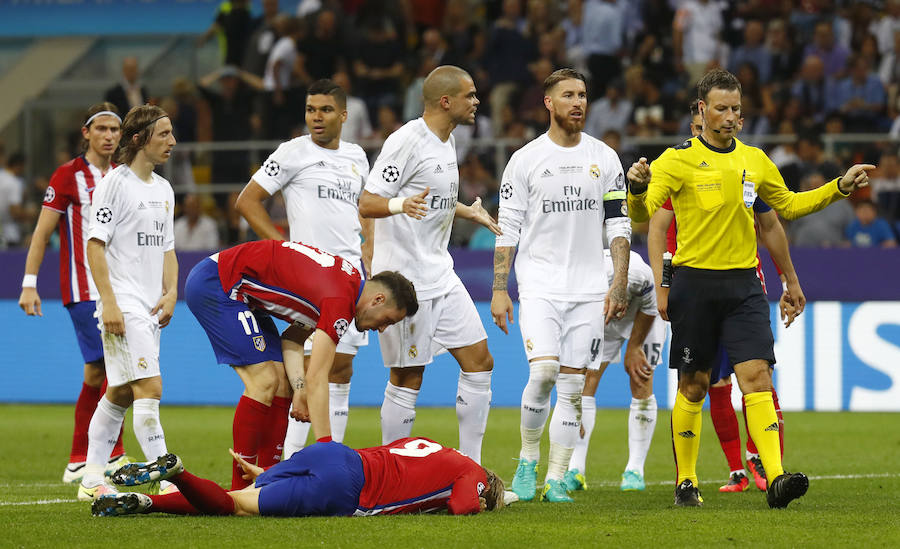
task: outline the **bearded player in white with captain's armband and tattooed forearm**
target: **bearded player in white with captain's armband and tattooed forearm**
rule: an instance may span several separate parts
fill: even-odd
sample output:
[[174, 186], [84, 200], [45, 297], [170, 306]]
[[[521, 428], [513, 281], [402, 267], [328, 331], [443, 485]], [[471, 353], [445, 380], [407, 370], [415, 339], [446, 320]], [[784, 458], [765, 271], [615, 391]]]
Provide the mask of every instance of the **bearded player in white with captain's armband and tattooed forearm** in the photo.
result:
[[[507, 280], [516, 246], [522, 340], [529, 376], [522, 392], [519, 465], [512, 490], [534, 499], [541, 436], [550, 414], [550, 457], [541, 500], [572, 501], [563, 477], [581, 426], [587, 368], [599, 366], [604, 320], [623, 318], [631, 222], [616, 152], [581, 130], [584, 76], [560, 69], [544, 80], [550, 130], [512, 156], [500, 186], [491, 314], [504, 332], [513, 321]], [[614, 274], [607, 280], [600, 235], [606, 228]]]

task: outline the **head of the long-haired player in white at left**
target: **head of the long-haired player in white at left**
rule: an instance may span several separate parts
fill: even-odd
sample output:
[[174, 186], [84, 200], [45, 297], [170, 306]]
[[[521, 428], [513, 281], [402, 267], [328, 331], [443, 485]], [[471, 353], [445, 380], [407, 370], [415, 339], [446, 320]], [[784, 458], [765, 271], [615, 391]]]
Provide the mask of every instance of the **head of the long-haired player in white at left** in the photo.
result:
[[125, 115], [116, 158], [129, 166], [136, 160], [156, 166], [169, 159], [174, 146], [172, 121], [166, 111], [156, 105], [140, 105]]

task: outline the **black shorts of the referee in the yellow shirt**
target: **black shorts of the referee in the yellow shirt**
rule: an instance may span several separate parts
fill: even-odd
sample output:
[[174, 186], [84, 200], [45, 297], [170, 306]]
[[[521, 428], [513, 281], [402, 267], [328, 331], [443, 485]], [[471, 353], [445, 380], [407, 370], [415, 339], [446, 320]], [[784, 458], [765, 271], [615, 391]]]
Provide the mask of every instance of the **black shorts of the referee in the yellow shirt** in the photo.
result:
[[670, 368], [709, 371], [719, 345], [732, 366], [753, 359], [775, 363], [769, 304], [756, 269], [679, 267], [669, 291], [669, 320]]

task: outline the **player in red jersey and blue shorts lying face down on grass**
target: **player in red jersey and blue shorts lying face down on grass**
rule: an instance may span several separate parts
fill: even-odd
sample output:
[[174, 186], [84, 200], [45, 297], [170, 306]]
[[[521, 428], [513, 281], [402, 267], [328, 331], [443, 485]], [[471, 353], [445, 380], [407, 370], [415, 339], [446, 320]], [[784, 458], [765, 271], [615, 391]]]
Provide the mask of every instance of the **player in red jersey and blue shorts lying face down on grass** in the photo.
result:
[[367, 516], [425, 513], [447, 509], [453, 515], [503, 507], [503, 481], [453, 448], [427, 438], [403, 438], [386, 446], [354, 450], [320, 442], [267, 470], [234, 451], [247, 480], [242, 490], [226, 491], [185, 470], [181, 458], [132, 463], [116, 471], [116, 484], [135, 486], [168, 480], [179, 492], [166, 495], [120, 493], [91, 505], [94, 516], [138, 513], [239, 516]]

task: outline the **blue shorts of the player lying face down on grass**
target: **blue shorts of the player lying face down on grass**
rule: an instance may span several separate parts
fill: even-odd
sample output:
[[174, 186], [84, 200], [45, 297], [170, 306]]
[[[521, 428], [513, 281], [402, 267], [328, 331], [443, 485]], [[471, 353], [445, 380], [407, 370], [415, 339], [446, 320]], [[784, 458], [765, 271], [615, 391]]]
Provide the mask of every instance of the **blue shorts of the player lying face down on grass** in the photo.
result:
[[256, 477], [259, 514], [350, 516], [366, 482], [362, 458], [339, 442], [317, 442]]

